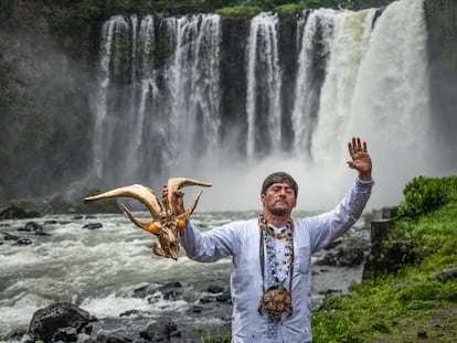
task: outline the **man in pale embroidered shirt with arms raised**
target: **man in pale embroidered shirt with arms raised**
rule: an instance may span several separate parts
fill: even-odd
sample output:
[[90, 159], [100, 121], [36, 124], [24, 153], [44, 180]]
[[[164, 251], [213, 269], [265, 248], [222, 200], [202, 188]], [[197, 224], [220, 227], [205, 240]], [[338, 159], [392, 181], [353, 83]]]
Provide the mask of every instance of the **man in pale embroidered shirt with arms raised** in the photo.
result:
[[[354, 184], [334, 207], [320, 215], [291, 218], [298, 185], [284, 172], [267, 176], [262, 186], [263, 213], [201, 233], [188, 221], [181, 245], [189, 258], [212, 262], [232, 256], [232, 342], [311, 342], [311, 254], [346, 233], [360, 217], [374, 181], [366, 142], [348, 142], [359, 171]], [[168, 190], [163, 187], [166, 197]], [[178, 211], [184, 211], [177, 191]]]

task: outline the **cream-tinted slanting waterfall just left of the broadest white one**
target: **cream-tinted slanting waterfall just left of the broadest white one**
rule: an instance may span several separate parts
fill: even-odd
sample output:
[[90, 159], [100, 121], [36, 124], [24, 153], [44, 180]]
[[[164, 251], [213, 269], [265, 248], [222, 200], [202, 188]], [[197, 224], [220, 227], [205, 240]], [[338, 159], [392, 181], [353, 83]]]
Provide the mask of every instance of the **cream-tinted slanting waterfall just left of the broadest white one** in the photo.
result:
[[[321, 89], [319, 119], [312, 133], [311, 153], [316, 163], [333, 168], [348, 139], [352, 95], [363, 51], [366, 49], [375, 10], [340, 12], [334, 17], [334, 33], [326, 82]], [[369, 138], [366, 138], [369, 139]]]

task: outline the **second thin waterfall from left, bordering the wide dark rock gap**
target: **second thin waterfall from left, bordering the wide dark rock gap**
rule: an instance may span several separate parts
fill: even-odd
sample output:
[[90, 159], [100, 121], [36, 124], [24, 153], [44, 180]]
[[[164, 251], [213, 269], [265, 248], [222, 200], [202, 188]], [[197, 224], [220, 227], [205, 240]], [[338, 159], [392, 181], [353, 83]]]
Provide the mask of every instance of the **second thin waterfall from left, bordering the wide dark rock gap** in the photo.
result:
[[193, 163], [189, 152], [211, 158], [219, 146], [220, 17], [168, 18], [163, 24], [174, 42], [161, 95], [169, 111], [166, 169], [173, 170]]

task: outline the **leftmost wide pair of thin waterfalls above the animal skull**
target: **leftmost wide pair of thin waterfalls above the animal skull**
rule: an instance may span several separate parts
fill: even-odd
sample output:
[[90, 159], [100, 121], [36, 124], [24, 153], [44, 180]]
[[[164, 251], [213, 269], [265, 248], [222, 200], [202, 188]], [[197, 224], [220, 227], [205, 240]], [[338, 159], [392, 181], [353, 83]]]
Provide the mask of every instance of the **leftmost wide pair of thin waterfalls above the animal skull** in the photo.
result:
[[[203, 14], [105, 23], [94, 167], [106, 184], [148, 183], [192, 167], [189, 152], [216, 153], [219, 25], [219, 15]], [[157, 49], [168, 56], [155, 61]]]

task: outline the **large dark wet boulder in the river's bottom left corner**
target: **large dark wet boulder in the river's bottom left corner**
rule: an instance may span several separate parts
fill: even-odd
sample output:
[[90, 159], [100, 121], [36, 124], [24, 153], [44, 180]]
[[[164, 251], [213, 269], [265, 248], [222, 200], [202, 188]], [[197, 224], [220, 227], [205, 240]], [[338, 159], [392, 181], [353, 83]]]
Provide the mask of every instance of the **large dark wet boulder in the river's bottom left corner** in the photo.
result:
[[34, 341], [75, 342], [78, 333], [89, 333], [89, 323], [88, 312], [68, 302], [57, 302], [33, 313], [29, 334]]

